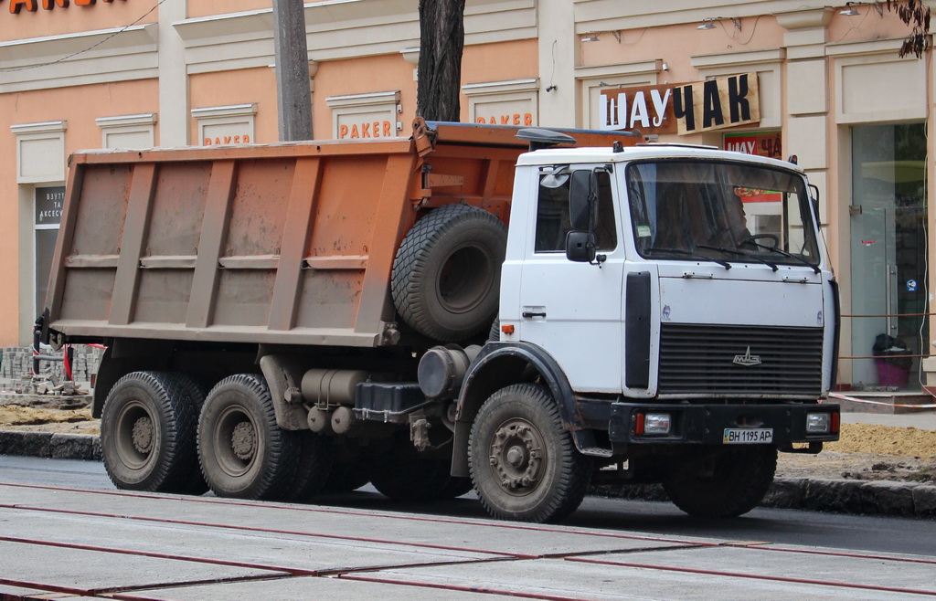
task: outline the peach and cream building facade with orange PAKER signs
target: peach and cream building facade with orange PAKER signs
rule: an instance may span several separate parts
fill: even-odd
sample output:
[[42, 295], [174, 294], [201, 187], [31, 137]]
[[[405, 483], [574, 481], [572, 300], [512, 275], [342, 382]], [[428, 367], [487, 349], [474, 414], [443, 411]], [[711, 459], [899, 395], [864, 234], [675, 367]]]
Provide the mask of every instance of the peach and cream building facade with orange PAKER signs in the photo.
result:
[[[69, 153], [276, 141], [270, 4], [0, 0], [0, 346], [26, 344], [43, 306]], [[867, 3], [466, 5], [463, 122], [636, 128], [796, 155], [841, 283], [840, 381], [918, 390], [936, 376], [936, 66], [930, 50], [899, 58], [906, 25]], [[417, 3], [325, 0], [305, 18], [314, 136], [408, 136]], [[749, 209], [779, 219], [769, 202]], [[916, 355], [888, 362], [896, 378], [874, 358], [882, 343]]]

